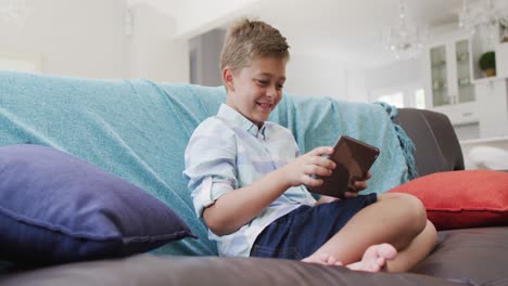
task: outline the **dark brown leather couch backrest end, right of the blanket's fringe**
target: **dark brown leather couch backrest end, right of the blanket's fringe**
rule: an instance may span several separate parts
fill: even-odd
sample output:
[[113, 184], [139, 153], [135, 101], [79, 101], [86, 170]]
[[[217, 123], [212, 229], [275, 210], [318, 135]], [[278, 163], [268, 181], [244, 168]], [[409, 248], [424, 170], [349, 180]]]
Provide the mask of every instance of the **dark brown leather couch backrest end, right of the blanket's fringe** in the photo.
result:
[[418, 176], [463, 170], [462, 151], [446, 115], [426, 109], [398, 108], [398, 117], [394, 121], [416, 145]]

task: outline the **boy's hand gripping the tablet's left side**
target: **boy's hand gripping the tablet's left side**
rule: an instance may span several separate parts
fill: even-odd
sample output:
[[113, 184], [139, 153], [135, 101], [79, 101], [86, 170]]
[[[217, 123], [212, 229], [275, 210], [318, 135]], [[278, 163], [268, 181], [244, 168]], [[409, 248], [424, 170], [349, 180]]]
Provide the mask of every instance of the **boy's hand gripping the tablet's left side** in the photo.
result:
[[329, 146], [317, 147], [296, 159], [292, 160], [282, 170], [289, 180], [291, 186], [308, 185], [319, 186], [322, 184], [321, 179], [315, 179], [313, 174], [330, 176], [335, 169], [335, 164], [322, 155], [333, 154], [333, 148]]

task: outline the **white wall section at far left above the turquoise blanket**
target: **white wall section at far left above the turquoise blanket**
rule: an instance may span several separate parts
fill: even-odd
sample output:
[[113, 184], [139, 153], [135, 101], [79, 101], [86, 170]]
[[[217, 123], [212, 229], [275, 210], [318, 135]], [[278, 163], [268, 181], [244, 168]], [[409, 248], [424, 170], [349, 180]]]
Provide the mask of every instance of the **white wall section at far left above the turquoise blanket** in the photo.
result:
[[45, 73], [127, 77], [124, 0], [27, 0], [24, 27], [0, 22], [0, 52], [39, 55]]

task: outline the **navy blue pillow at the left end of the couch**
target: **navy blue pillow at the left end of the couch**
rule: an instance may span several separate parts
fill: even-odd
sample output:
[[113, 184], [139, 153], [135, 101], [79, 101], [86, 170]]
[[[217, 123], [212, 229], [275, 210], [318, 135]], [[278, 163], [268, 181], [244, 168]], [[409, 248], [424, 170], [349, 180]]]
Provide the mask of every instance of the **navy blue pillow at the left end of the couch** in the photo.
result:
[[195, 237], [145, 191], [51, 147], [0, 147], [0, 260], [125, 257]]

